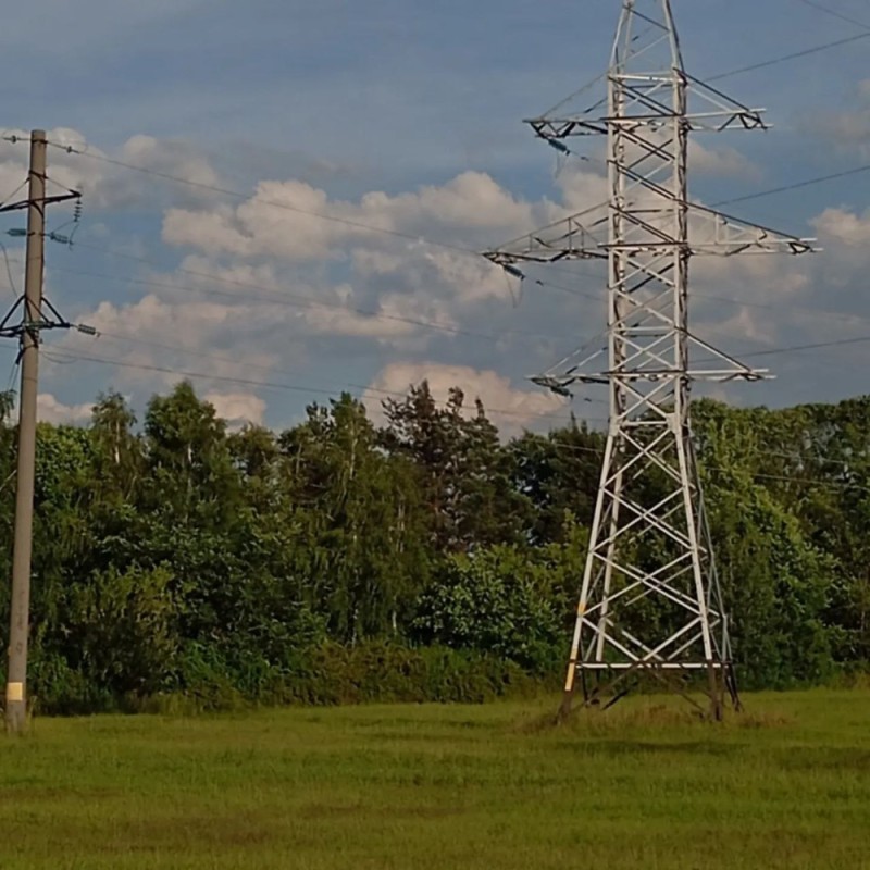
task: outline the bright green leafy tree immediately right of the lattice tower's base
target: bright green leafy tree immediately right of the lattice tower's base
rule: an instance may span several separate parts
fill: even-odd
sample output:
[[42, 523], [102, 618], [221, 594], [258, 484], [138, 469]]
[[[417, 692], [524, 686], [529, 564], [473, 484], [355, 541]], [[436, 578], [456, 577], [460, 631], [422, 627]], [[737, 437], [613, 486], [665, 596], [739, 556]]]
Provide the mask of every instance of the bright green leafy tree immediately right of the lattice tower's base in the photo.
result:
[[765, 461], [757, 431], [723, 407], [698, 418], [706, 502], [741, 672], [753, 686], [823, 680], [833, 669], [826, 611], [835, 561], [756, 482], [754, 465]]

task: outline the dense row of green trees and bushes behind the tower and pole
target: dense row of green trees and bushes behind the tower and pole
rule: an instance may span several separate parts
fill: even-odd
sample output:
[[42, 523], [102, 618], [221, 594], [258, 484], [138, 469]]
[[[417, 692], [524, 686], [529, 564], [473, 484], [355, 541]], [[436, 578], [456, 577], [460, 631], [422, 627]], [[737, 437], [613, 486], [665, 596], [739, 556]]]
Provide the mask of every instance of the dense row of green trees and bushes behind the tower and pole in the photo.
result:
[[[11, 573], [15, 430], [0, 427]], [[604, 436], [499, 437], [458, 389], [348, 395], [228, 431], [183, 383], [37, 443], [30, 695], [40, 710], [475, 700], [562, 675]], [[870, 660], [870, 398], [694, 408], [747, 687]], [[9, 584], [0, 584], [5, 646]]]

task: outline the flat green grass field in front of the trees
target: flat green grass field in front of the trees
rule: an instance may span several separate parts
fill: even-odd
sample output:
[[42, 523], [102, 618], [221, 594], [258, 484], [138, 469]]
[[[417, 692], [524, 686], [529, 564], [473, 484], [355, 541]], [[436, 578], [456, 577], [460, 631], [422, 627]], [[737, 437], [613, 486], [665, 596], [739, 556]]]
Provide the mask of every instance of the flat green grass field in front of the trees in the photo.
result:
[[38, 720], [0, 739], [0, 868], [870, 868], [870, 693], [746, 701]]

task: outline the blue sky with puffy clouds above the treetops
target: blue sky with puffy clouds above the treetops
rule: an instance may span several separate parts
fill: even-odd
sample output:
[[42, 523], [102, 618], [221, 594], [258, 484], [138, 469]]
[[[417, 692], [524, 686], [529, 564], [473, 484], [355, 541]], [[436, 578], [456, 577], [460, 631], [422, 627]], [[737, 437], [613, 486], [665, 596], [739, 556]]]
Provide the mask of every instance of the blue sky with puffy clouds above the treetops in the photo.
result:
[[[15, 4], [0, 33], [0, 130], [47, 129], [50, 192], [84, 194], [78, 224], [71, 207], [50, 210], [49, 228], [75, 235], [48, 244], [46, 289], [71, 322], [100, 333], [47, 336], [41, 418], [86, 421], [109, 389], [141, 413], [188, 377], [231, 424], [281, 428], [343, 390], [376, 418], [382, 399], [425, 377], [440, 397], [453, 385], [480, 396], [508, 434], [572, 410], [600, 425], [600, 388], [568, 401], [527, 377], [600, 334], [604, 274], [562, 266], [521, 287], [475, 252], [601, 197], [594, 163], [557, 164], [522, 120], [604, 72], [619, 7]], [[766, 108], [773, 125], [699, 138], [693, 197], [732, 199], [870, 162], [870, 38], [723, 75], [869, 33], [866, 0], [673, 9], [687, 70]], [[0, 142], [0, 201], [26, 161], [26, 142]], [[870, 172], [730, 209], [823, 250], [695, 269], [695, 332], [776, 375], [709, 395], [781, 407], [867, 391], [870, 341], [769, 351], [870, 335], [868, 197]], [[23, 226], [23, 213], [0, 215], [0, 234]], [[11, 304], [23, 252], [20, 238], [0, 239], [0, 298]], [[0, 381], [14, 385], [14, 363], [8, 341]]]

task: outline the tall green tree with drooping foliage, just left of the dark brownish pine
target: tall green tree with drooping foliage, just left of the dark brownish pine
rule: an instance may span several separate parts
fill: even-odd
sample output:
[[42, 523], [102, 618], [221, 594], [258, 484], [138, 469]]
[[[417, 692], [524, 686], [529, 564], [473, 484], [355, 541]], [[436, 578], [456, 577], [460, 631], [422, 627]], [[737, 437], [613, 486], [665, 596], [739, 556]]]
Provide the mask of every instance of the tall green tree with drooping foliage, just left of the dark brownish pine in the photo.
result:
[[312, 607], [343, 641], [397, 633], [427, 574], [406, 461], [378, 448], [365, 409], [348, 395], [309, 408], [281, 445], [304, 506]]

